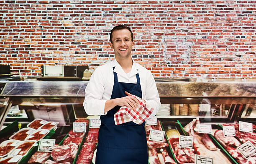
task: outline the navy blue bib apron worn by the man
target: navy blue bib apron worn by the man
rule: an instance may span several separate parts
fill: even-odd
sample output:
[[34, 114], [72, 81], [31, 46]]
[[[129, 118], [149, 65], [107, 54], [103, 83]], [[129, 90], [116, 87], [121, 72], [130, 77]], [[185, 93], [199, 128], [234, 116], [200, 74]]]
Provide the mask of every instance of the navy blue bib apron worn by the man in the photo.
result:
[[[137, 84], [118, 82], [117, 73], [114, 72], [114, 86], [110, 99], [127, 96], [125, 91], [142, 98], [138, 74], [136, 78]], [[148, 164], [145, 122], [115, 125], [114, 114], [119, 108], [120, 106], [116, 106], [105, 116], [100, 116], [96, 164]]]

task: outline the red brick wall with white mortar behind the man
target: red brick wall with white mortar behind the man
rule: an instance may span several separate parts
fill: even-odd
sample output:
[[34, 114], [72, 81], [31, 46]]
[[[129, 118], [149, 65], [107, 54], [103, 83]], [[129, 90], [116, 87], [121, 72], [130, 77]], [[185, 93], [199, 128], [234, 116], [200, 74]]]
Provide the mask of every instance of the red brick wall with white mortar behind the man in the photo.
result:
[[256, 0], [0, 0], [0, 65], [95, 69], [113, 59], [118, 24], [155, 77], [256, 78]]

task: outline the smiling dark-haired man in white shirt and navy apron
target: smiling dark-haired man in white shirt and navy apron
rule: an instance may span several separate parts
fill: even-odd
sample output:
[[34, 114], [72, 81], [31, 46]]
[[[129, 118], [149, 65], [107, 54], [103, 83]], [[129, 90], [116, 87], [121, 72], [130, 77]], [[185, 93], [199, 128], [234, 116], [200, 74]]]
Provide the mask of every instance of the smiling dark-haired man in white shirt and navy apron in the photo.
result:
[[101, 115], [96, 164], [148, 164], [145, 122], [115, 125], [114, 114], [120, 106], [137, 108], [138, 100], [129, 96], [133, 94], [154, 108], [151, 116], [156, 115], [161, 104], [156, 83], [151, 72], [131, 57], [134, 42], [129, 27], [115, 26], [110, 42], [115, 60], [98, 67], [85, 89], [85, 112]]

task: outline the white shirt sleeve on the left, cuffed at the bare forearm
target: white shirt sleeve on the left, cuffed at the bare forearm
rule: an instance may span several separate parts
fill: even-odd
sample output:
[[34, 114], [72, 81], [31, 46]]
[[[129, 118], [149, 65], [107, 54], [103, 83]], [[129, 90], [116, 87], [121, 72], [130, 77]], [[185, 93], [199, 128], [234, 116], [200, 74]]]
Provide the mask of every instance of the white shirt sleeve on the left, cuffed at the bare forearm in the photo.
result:
[[99, 69], [96, 69], [85, 88], [84, 109], [88, 115], [106, 115], [105, 102], [102, 100], [105, 78]]

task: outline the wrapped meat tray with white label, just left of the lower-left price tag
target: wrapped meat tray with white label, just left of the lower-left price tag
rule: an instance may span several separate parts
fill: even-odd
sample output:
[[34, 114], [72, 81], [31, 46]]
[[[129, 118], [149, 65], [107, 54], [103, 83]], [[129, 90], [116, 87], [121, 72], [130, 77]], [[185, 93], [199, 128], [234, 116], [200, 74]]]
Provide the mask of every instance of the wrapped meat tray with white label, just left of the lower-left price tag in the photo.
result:
[[9, 154], [8, 157], [13, 157], [16, 155], [25, 156], [28, 151], [34, 146], [36, 141], [20, 141], [18, 146], [15, 147]]

